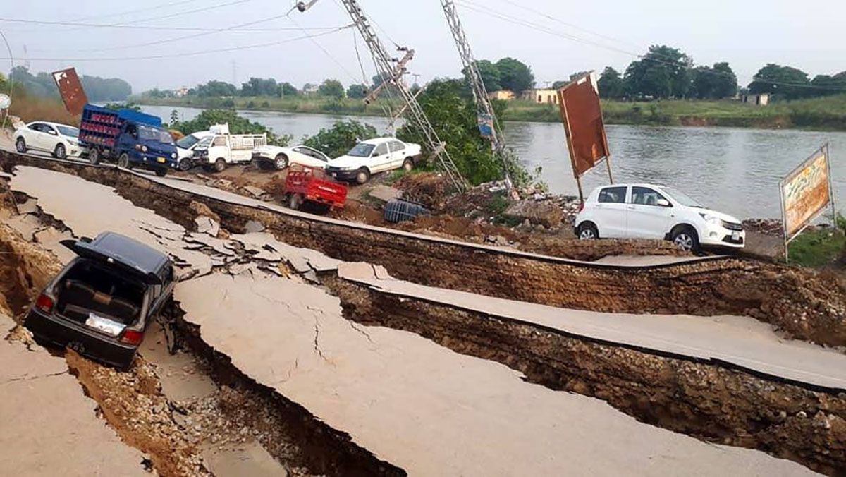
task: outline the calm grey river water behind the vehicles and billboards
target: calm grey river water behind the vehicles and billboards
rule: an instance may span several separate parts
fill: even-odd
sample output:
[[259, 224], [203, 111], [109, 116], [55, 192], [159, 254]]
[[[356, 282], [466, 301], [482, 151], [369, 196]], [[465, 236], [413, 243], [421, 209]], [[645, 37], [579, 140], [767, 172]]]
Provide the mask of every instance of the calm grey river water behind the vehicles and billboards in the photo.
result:
[[[145, 106], [146, 113], [168, 120], [176, 109], [180, 119], [193, 119], [198, 108]], [[348, 116], [240, 111], [294, 141], [314, 135]], [[387, 119], [354, 118], [387, 129]], [[541, 167], [550, 191], [577, 195], [570, 169], [563, 126], [555, 123], [506, 123], [505, 136], [529, 169]], [[611, 165], [617, 182], [652, 182], [674, 186], [691, 197], [740, 218], [781, 215], [778, 181], [818, 147], [828, 142], [832, 153], [835, 198], [846, 199], [846, 132], [750, 130], [732, 128], [608, 126]], [[607, 184], [604, 165], [583, 180], [585, 194]], [[842, 210], [838, 206], [838, 210]]]

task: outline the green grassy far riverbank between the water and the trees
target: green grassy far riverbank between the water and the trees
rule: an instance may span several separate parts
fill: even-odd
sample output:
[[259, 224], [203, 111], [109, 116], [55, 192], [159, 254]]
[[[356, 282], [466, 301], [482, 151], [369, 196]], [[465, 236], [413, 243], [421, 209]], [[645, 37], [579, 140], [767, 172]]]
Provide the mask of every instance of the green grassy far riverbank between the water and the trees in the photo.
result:
[[[238, 108], [301, 114], [385, 116], [389, 103], [365, 104], [360, 99], [319, 97], [182, 97], [139, 98], [149, 106]], [[396, 103], [393, 104], [396, 109]], [[734, 101], [603, 101], [609, 125], [727, 126], [755, 129], [846, 130], [846, 95], [772, 103], [755, 107]], [[505, 121], [558, 123], [558, 107], [528, 101], [507, 103]]]

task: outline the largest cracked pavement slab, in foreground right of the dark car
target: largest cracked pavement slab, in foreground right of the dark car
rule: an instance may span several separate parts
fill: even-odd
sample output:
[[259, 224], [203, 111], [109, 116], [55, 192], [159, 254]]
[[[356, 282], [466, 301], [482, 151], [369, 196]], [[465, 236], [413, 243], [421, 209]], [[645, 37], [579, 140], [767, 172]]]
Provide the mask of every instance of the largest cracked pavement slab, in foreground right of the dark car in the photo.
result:
[[212, 274], [180, 283], [175, 298], [244, 374], [409, 474], [811, 474], [528, 384], [413, 333], [355, 324], [337, 297], [297, 280]]

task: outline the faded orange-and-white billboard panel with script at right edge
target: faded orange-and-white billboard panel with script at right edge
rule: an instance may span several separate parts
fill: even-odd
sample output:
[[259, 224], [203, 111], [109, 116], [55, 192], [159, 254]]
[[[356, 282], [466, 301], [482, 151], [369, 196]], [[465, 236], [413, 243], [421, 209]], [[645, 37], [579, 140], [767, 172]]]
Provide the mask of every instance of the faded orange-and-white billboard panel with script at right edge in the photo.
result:
[[779, 184], [784, 241], [799, 235], [829, 205], [833, 208], [828, 145], [821, 147]]

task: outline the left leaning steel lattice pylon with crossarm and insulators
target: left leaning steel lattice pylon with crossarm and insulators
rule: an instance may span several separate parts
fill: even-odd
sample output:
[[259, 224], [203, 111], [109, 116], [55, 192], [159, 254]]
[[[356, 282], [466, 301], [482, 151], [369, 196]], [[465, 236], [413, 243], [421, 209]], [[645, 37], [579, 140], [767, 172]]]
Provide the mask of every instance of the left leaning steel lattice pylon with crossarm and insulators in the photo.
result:
[[[437, 158], [438, 163], [441, 165], [441, 169], [443, 169], [444, 173], [453, 185], [459, 189], [459, 191], [465, 191], [468, 186], [467, 180], [464, 179], [463, 175], [461, 175], [459, 169], [455, 167], [453, 158], [449, 156], [446, 149], [446, 143], [441, 141], [441, 139], [437, 136], [437, 132], [435, 132], [435, 129], [432, 127], [429, 119], [426, 118], [423, 108], [420, 107], [420, 103], [417, 103], [417, 98], [405, 84], [405, 80], [403, 79], [403, 76], [408, 71], [408, 69], [406, 69], [406, 64], [414, 58], [415, 51], [410, 48], [398, 47], [398, 51], [404, 53], [403, 58], [392, 58], [390, 53], [387, 52], [387, 49], [382, 45], [379, 37], [376, 36], [375, 31], [373, 31], [373, 27], [365, 17], [365, 14], [359, 7], [358, 2], [355, 0], [340, 0], [340, 2], [343, 3], [343, 7], [346, 8], [350, 18], [353, 19], [361, 37], [364, 38], [364, 41], [373, 56], [376, 69], [378, 69], [379, 75], [382, 76], [382, 85], [377, 86], [376, 89], [370, 92], [370, 94], [368, 94], [365, 98], [365, 101], [370, 102], [376, 99], [376, 96], [379, 92], [381, 92], [383, 87], [387, 85], [393, 86], [399, 95], [403, 97], [405, 111], [409, 116], [410, 122], [416, 125], [426, 138], [426, 146], [431, 149], [432, 157]], [[297, 4], [297, 9], [299, 9], [300, 12], [304, 12], [308, 8], [311, 8], [314, 3], [316, 3], [316, 0], [312, 0], [308, 3], [300, 2]]]

